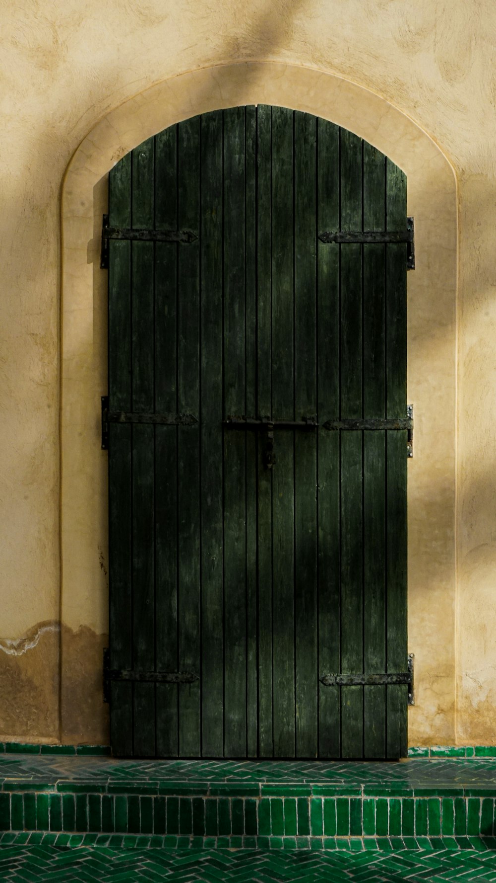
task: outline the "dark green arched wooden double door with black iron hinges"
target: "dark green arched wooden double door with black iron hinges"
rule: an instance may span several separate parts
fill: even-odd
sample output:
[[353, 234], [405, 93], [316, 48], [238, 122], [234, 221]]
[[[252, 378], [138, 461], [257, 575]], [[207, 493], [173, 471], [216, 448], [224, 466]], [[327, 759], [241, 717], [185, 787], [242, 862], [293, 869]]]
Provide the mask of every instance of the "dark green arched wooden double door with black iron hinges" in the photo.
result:
[[109, 216], [113, 751], [404, 755], [404, 683], [320, 678], [406, 670], [406, 245], [319, 238], [404, 230], [403, 172], [219, 110], [124, 156]]

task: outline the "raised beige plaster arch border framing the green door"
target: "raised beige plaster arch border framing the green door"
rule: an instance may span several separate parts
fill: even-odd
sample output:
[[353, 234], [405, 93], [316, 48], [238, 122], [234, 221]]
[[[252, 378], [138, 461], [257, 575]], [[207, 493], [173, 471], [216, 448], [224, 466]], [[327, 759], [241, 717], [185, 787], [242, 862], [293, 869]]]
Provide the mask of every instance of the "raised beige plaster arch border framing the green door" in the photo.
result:
[[408, 177], [417, 269], [409, 274], [409, 648], [416, 706], [409, 743], [455, 742], [456, 181], [433, 140], [379, 95], [334, 75], [276, 63], [183, 73], [136, 95], [94, 126], [70, 161], [62, 200], [61, 740], [107, 742], [107, 273], [100, 270], [108, 170], [181, 119], [276, 104], [355, 132]]

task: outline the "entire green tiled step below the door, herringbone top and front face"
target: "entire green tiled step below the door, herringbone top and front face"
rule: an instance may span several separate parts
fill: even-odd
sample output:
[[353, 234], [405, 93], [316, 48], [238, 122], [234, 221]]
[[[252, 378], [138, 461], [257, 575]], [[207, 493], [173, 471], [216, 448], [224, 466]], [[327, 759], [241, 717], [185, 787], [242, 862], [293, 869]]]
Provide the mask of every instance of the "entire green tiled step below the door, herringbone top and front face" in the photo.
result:
[[496, 837], [488, 757], [347, 764], [6, 752], [0, 782], [0, 832], [13, 834], [206, 838], [243, 849]]

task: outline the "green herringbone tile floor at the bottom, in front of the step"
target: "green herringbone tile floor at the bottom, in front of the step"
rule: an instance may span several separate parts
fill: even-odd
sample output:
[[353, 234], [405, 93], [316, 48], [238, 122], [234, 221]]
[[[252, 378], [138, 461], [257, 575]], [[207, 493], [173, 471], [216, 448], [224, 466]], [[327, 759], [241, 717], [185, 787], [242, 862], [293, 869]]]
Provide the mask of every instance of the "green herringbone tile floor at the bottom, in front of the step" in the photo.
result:
[[309, 849], [269, 852], [7, 846], [0, 847], [0, 879], [8, 883], [469, 883], [496, 880], [496, 853], [489, 849], [325, 853]]

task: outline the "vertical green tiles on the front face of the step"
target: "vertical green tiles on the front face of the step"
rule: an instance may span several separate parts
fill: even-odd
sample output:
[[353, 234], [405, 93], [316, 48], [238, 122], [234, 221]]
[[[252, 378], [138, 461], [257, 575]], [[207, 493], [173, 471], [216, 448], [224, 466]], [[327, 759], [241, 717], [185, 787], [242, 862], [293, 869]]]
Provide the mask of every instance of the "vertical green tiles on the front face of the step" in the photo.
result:
[[496, 835], [492, 796], [257, 798], [24, 788], [0, 793], [0, 830], [278, 838]]

